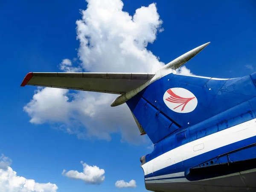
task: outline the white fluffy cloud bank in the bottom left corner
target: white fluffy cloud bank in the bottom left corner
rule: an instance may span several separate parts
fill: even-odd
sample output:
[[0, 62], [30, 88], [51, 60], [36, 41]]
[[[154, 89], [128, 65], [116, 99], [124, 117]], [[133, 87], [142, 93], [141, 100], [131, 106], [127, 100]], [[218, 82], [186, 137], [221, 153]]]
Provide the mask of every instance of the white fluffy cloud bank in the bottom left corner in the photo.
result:
[[52, 183], [36, 183], [33, 179], [17, 176], [9, 166], [12, 160], [3, 154], [0, 157], [0, 191], [2, 192], [56, 192]]

